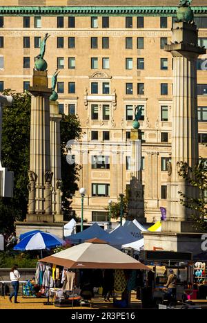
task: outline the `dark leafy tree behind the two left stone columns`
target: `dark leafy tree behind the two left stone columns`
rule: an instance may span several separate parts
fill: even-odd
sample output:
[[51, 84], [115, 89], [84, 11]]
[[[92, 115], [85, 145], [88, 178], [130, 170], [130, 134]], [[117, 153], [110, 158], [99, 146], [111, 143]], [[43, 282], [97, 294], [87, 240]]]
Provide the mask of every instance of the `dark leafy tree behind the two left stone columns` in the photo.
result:
[[[10, 89], [3, 94], [12, 95], [12, 107], [3, 107], [2, 151], [3, 167], [14, 172], [13, 198], [0, 198], [0, 230], [14, 231], [14, 221], [26, 218], [28, 206], [28, 169], [30, 163], [30, 106], [28, 93], [15, 93]], [[76, 116], [63, 116], [61, 121], [61, 167], [63, 199], [75, 192], [78, 165], [69, 165], [63, 149], [70, 139], [80, 138], [81, 128]]]

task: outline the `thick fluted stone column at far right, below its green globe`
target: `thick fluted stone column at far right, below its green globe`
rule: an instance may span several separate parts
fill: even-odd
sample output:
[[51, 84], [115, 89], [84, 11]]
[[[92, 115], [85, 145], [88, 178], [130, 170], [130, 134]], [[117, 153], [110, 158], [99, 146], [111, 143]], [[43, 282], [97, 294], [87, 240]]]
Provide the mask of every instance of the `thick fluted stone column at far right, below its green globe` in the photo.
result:
[[[181, 176], [188, 173], [199, 158], [197, 122], [197, 57], [205, 53], [197, 46], [195, 24], [177, 22], [173, 25], [172, 44], [165, 50], [173, 57], [173, 104], [172, 104], [172, 165], [168, 183], [167, 219], [163, 230], [172, 232], [192, 231], [192, 210], [180, 203], [179, 191], [197, 198], [197, 190], [190, 187]], [[184, 167], [183, 167], [184, 166]]]

